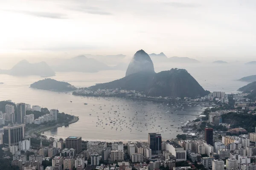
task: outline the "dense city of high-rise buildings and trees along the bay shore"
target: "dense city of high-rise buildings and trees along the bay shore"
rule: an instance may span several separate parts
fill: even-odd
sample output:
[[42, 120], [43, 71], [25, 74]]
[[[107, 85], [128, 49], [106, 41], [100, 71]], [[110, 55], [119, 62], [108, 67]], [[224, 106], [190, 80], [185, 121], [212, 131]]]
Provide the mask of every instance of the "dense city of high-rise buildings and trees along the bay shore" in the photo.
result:
[[[219, 91], [198, 99], [175, 98], [201, 103], [207, 109], [197, 119], [181, 123], [183, 133], [176, 139], [162, 139], [156, 132], [145, 134], [148, 142], [86, 141], [81, 136], [48, 139], [44, 131], [73, 123], [70, 120], [76, 116], [38, 105], [2, 101], [0, 161], [5, 164], [3, 170], [255, 170], [255, 125], [236, 126], [225, 121], [235, 121], [234, 115], [245, 115], [245, 120], [246, 116], [254, 116], [255, 102], [244, 96], [247, 94]], [[154, 99], [168, 103], [171, 98]]]

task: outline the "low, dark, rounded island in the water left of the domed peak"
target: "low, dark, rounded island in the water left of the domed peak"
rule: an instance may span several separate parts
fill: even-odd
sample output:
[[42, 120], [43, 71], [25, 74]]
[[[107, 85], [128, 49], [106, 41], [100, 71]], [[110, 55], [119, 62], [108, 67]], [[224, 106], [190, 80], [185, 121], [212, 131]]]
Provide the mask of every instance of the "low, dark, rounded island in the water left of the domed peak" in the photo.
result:
[[76, 87], [70, 85], [67, 82], [60, 82], [55, 79], [43, 79], [39, 80], [38, 82], [34, 82], [30, 85], [30, 88], [36, 88], [41, 90], [48, 90], [48, 91], [58, 91], [58, 92], [67, 92], [67, 91], [74, 91]]

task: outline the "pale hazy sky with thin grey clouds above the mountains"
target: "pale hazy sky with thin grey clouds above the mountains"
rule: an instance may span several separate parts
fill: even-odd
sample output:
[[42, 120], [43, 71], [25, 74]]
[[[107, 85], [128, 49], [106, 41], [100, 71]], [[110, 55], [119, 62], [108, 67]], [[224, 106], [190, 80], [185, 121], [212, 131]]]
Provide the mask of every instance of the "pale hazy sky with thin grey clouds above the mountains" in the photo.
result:
[[0, 57], [256, 57], [256, 0], [0, 0]]

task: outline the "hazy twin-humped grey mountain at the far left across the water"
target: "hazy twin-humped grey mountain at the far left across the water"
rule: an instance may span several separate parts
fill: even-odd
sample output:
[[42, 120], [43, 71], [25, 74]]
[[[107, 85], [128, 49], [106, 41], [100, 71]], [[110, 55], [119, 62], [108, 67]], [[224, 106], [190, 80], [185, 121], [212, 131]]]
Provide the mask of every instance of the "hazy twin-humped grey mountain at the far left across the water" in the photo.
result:
[[25, 59], [18, 62], [9, 70], [0, 70], [0, 74], [9, 74], [13, 76], [55, 76], [55, 72], [46, 62], [29, 63]]

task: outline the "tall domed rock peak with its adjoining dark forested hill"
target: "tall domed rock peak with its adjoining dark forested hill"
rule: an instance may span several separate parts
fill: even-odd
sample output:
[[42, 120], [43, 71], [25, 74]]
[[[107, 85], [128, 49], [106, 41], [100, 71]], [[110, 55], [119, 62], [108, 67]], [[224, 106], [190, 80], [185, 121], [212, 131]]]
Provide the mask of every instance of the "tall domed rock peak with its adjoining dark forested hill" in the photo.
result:
[[[135, 64], [134, 61], [136, 61]], [[151, 62], [145, 51], [137, 51], [130, 62], [131, 65], [128, 66], [128, 74], [125, 77], [112, 82], [97, 84], [89, 87], [89, 89], [121, 88], [140, 91], [147, 96], [192, 98], [209, 94], [209, 91], [205, 91], [186, 70], [172, 68], [169, 71], [155, 73], [154, 65]], [[136, 65], [135, 68], [139, 69], [133, 69], [134, 65]]]

